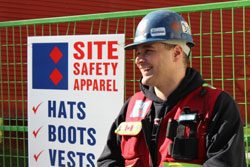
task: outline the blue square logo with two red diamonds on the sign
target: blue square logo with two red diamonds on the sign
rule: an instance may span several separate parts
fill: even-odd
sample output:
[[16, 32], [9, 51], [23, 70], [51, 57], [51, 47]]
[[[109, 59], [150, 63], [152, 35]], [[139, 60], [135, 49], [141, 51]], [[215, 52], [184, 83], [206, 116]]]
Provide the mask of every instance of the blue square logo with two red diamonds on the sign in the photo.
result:
[[68, 43], [32, 44], [32, 88], [68, 89]]

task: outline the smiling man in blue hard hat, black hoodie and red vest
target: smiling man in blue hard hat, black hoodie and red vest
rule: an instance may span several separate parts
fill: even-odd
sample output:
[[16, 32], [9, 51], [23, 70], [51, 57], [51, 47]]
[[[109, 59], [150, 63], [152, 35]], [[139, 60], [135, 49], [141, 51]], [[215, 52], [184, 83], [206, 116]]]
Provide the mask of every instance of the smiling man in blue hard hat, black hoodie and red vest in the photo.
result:
[[125, 49], [136, 49], [141, 92], [122, 107], [98, 166], [245, 166], [237, 105], [188, 67], [193, 46], [175, 12], [151, 12], [140, 21]]

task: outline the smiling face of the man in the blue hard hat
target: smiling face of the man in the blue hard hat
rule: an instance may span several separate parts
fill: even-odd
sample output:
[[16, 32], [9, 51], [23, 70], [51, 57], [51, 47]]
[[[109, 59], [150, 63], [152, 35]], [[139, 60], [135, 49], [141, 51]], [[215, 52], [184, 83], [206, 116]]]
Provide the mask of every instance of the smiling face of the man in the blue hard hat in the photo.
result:
[[175, 70], [172, 55], [173, 47], [160, 42], [139, 45], [135, 63], [141, 71], [142, 84], [157, 87], [171, 80]]

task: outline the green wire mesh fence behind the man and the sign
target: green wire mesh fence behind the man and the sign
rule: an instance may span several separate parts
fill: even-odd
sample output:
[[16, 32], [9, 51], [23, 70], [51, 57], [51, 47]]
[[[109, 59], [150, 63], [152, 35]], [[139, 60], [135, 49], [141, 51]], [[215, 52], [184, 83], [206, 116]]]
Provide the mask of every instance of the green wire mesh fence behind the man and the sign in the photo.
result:
[[[189, 22], [196, 43], [190, 66], [236, 99], [249, 152], [250, 1], [161, 9], [179, 12]], [[28, 166], [27, 37], [124, 33], [130, 43], [140, 18], [153, 10], [0, 22], [0, 166]], [[126, 52], [126, 99], [138, 90], [134, 58], [133, 51]]]

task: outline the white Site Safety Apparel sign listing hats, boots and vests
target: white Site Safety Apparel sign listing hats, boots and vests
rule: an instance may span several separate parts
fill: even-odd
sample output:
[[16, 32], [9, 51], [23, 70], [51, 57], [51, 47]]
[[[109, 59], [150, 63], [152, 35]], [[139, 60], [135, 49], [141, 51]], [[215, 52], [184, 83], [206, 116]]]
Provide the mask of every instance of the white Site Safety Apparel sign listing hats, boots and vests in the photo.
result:
[[28, 38], [30, 167], [96, 166], [124, 99], [124, 35]]

